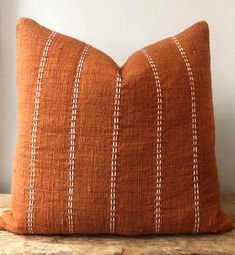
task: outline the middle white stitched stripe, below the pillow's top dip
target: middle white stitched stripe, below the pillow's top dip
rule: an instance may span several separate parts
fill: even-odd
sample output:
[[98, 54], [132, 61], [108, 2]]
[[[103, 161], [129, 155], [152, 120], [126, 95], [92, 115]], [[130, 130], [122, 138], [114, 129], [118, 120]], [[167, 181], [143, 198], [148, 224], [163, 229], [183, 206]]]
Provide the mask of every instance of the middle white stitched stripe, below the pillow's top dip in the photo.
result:
[[115, 217], [116, 217], [116, 180], [117, 180], [119, 110], [120, 110], [121, 88], [122, 88], [122, 77], [120, 73], [118, 72], [117, 80], [116, 80], [114, 113], [113, 113], [113, 142], [112, 142], [112, 160], [111, 160], [110, 218], [109, 218], [109, 229], [111, 233], [115, 231]]

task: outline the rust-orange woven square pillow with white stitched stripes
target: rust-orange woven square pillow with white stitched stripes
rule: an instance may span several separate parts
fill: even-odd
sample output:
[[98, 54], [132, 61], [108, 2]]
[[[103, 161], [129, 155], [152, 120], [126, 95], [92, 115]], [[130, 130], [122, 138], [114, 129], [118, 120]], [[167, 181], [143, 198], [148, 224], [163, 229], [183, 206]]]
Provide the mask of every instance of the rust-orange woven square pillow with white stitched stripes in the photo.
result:
[[109, 56], [28, 18], [17, 24], [12, 210], [23, 234], [204, 233], [220, 209], [208, 26]]

